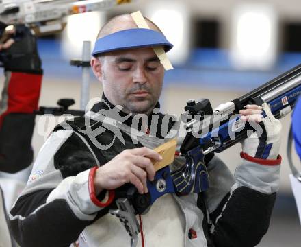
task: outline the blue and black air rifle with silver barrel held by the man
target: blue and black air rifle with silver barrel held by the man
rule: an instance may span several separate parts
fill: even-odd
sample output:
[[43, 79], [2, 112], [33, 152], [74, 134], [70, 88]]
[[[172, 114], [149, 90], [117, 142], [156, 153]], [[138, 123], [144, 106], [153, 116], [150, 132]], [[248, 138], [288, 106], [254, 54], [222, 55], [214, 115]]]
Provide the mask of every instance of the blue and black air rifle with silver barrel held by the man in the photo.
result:
[[122, 198], [116, 199], [118, 209], [110, 210], [125, 225], [131, 237], [131, 247], [138, 242], [140, 226], [135, 214], [147, 211], [157, 198], [166, 193], [200, 193], [209, 188], [209, 177], [204, 158], [212, 152], [222, 152], [248, 137], [250, 124], [241, 121], [239, 110], [247, 104], [269, 104], [272, 114], [280, 119], [293, 110], [301, 95], [301, 64], [279, 75], [231, 102], [212, 108], [209, 99], [189, 100], [185, 106], [187, 134], [181, 144], [185, 164], [176, 171], [166, 166], [156, 172], [155, 180], [148, 181], [148, 193], [140, 195], [129, 186]]

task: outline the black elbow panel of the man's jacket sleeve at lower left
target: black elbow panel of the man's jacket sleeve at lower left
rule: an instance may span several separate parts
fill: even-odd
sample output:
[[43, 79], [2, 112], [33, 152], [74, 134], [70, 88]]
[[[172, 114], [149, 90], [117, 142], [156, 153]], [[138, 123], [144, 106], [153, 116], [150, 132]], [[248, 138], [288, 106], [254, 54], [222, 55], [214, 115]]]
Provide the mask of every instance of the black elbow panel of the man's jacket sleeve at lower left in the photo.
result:
[[57, 199], [25, 219], [11, 220], [10, 228], [22, 247], [65, 247], [75, 242], [89, 223], [79, 220], [66, 200]]

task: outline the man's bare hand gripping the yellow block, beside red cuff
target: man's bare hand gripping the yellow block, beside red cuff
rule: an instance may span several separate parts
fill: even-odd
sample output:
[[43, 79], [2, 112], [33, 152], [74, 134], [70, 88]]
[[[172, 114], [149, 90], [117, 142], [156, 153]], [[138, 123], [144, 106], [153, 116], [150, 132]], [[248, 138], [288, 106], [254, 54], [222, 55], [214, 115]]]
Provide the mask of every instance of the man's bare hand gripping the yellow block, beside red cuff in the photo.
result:
[[146, 180], [153, 180], [155, 168], [151, 160], [161, 161], [160, 154], [149, 148], [124, 150], [97, 169], [94, 177], [95, 193], [116, 189], [125, 183], [135, 185], [139, 193], [147, 193]]

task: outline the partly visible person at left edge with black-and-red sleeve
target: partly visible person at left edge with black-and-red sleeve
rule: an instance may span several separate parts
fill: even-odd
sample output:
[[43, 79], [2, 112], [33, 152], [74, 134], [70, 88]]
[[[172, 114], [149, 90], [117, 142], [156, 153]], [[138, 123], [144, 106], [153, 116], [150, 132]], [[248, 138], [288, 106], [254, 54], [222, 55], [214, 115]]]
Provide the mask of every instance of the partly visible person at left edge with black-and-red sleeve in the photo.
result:
[[[38, 108], [42, 69], [36, 38], [28, 27], [5, 29], [0, 23], [0, 64], [5, 82], [0, 99], [0, 246], [14, 242], [7, 225], [7, 209], [12, 207], [30, 173], [33, 160], [31, 137], [34, 110]], [[6, 34], [7, 39], [3, 38]], [[18, 172], [18, 180], [15, 174]], [[25, 177], [25, 181], [20, 178]]]

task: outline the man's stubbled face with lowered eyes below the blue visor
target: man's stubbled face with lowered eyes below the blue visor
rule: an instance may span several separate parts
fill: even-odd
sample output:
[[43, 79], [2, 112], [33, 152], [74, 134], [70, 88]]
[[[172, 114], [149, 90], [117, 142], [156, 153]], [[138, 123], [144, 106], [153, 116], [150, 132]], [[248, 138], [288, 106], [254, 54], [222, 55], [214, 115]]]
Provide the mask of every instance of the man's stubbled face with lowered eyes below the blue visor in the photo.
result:
[[94, 62], [92, 58], [92, 67], [112, 104], [123, 106], [127, 113], [151, 113], [161, 95], [164, 76], [152, 48], [114, 51]]

